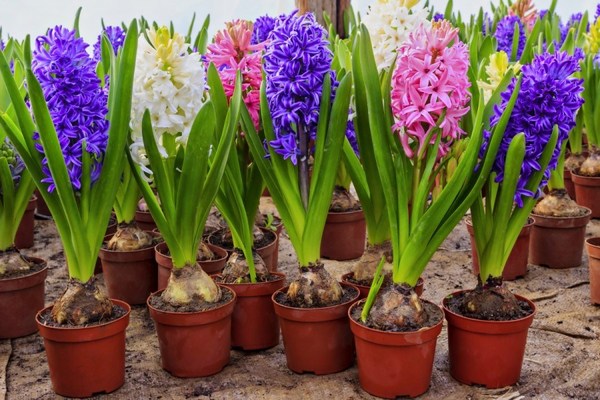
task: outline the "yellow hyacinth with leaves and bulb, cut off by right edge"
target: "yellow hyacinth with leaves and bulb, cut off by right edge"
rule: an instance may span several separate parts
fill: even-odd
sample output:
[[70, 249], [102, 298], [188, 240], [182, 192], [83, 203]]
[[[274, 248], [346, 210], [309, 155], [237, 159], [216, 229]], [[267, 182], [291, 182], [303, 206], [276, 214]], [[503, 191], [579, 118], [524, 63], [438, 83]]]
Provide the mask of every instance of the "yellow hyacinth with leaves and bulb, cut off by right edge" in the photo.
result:
[[589, 146], [589, 156], [577, 173], [584, 176], [600, 176], [600, 118], [598, 118], [598, 107], [600, 107], [600, 18], [590, 26], [586, 35], [584, 46], [585, 58], [581, 61], [581, 76], [584, 82], [583, 98], [585, 103], [582, 107], [583, 126], [586, 129]]

